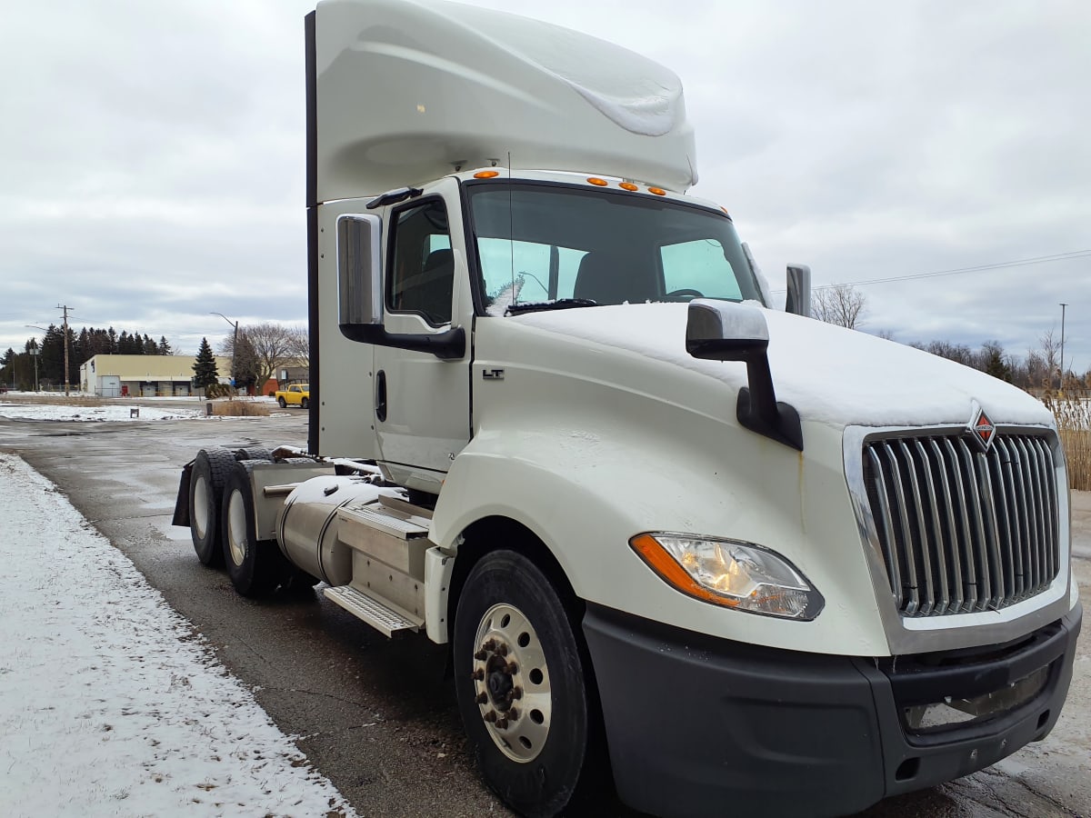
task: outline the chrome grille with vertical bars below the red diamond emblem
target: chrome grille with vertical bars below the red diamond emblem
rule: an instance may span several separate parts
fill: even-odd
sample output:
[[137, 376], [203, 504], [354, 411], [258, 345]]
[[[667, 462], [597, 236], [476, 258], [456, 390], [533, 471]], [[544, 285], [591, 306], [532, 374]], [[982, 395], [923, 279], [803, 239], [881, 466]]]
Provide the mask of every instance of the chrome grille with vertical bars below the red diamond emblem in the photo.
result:
[[1057, 575], [1050, 440], [998, 432], [868, 438], [864, 483], [890, 590], [906, 616], [998, 610]]

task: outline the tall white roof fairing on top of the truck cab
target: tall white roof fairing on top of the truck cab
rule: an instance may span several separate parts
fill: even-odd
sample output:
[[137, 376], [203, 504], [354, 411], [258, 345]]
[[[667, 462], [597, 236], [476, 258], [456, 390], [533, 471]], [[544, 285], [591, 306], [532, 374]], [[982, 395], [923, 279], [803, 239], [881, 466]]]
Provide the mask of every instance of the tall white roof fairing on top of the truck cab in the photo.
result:
[[578, 32], [440, 0], [317, 7], [320, 202], [493, 163], [684, 191], [696, 182], [682, 83]]

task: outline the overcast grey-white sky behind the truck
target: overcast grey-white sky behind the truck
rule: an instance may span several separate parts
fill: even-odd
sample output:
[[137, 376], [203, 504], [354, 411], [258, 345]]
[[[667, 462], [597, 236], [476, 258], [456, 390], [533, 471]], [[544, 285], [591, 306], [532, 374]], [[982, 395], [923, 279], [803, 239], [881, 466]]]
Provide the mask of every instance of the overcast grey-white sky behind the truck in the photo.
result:
[[[477, 0], [674, 70], [694, 193], [774, 288], [860, 285], [865, 328], [1091, 369], [1091, 3]], [[309, 0], [37, 0], [0, 27], [0, 349], [60, 323], [307, 317]], [[594, 169], [589, 169], [594, 170]], [[1056, 260], [1057, 256], [1064, 256]], [[1015, 264], [1026, 260], [1055, 258]], [[993, 266], [1006, 265], [1006, 266]]]

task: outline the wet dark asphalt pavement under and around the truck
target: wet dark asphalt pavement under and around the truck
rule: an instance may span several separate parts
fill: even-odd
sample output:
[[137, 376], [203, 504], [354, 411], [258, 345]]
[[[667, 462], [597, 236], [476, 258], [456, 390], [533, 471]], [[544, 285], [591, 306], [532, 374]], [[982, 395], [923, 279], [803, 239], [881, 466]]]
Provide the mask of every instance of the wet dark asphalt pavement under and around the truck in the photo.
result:
[[[57, 483], [134, 562], [361, 816], [511, 815], [466, 751], [444, 648], [417, 636], [387, 639], [319, 593], [239, 597], [226, 574], [196, 561], [188, 530], [170, 526], [180, 468], [201, 447], [305, 441], [304, 412], [109, 423], [0, 419], [0, 449]], [[1091, 495], [1076, 495], [1072, 519], [1087, 600]], [[1045, 742], [863, 815], [1091, 816], [1089, 630], [1069, 702]], [[635, 814], [614, 803], [596, 815]]]

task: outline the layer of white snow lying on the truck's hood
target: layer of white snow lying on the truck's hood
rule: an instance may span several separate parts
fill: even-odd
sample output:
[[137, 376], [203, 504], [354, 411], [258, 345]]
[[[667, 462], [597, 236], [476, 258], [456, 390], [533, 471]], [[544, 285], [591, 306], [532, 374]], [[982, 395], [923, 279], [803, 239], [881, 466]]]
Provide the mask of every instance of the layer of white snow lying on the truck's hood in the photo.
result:
[[[687, 310], [686, 304], [621, 304], [511, 320], [676, 364], [734, 389], [745, 386], [744, 364], [704, 361], [685, 351]], [[794, 406], [804, 421], [838, 428], [963, 425], [976, 400], [995, 423], [1053, 423], [1041, 401], [976, 370], [813, 318], [762, 312], [777, 399]]]

